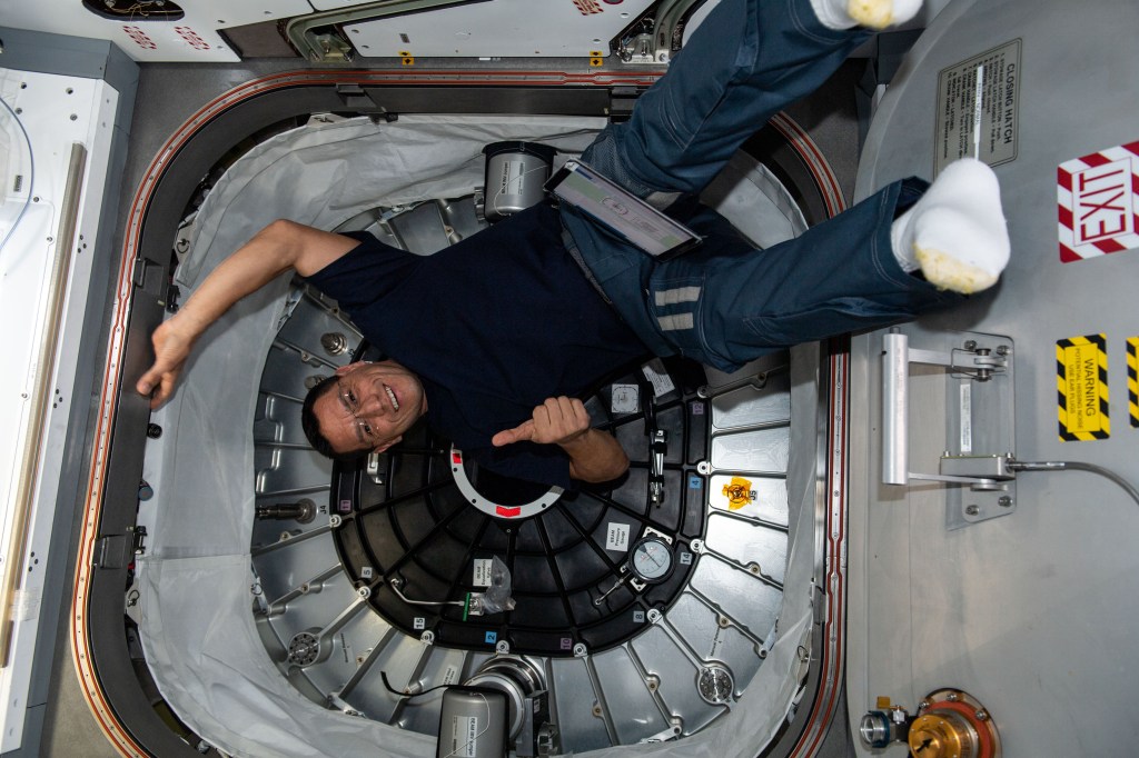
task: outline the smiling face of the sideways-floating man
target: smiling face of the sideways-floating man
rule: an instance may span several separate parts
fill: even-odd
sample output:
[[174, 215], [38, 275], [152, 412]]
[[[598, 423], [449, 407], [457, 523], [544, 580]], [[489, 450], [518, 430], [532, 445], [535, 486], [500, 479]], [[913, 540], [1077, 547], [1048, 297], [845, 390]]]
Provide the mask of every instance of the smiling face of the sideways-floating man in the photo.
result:
[[427, 412], [427, 398], [419, 377], [395, 361], [350, 363], [336, 370], [336, 386], [312, 412], [337, 453], [382, 453]]

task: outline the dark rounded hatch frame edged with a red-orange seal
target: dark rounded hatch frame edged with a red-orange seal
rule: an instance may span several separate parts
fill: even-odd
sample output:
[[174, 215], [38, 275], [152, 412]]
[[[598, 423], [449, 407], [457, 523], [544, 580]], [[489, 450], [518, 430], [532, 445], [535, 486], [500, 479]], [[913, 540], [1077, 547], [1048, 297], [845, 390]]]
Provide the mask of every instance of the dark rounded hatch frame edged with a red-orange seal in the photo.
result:
[[[481, 113], [605, 115], [625, 109], [612, 107], [614, 98], [624, 98], [647, 86], [655, 77], [654, 74], [540, 71], [494, 75], [465, 71], [273, 74], [208, 102], [165, 142], [141, 181], [126, 219], [98, 406], [95, 455], [88, 478], [88, 509], [71, 631], [84, 694], [100, 727], [124, 755], [189, 756], [196, 752], [158, 717], [139, 686], [123, 629], [122, 591], [132, 570], [134, 551], [145, 550], [145, 536], [134, 530], [136, 483], [149, 420], [146, 402], [129, 386], [123, 386], [123, 369], [141, 365], [148, 359], [148, 336], [161, 322], [169, 295], [169, 240], [165, 238], [202, 180], [198, 167], [216, 164], [230, 145], [290, 115], [330, 110], [384, 116], [400, 112], [453, 113], [464, 107]], [[489, 98], [487, 91], [495, 97]], [[492, 105], [487, 106], [489, 102]], [[828, 188], [823, 201], [828, 215], [841, 209], [842, 196], [834, 190], [834, 178], [828, 181], [826, 175], [819, 175], [827, 173], [825, 163], [821, 168], [820, 164], [811, 163], [817, 156], [810, 154], [817, 153], [817, 148], [803, 148], [810, 146], [810, 140], [789, 120], [777, 118], [776, 122], [776, 129], [801, 154], [810, 156], [808, 171]], [[823, 363], [828, 377], [820, 377], [820, 387], [829, 387], [825, 392], [833, 409], [838, 403], [835, 418], [827, 421], [827, 458], [834, 456], [842, 463], [845, 461], [845, 348], [841, 344], [833, 345], [838, 346], [830, 348], [833, 355]], [[796, 719], [795, 728], [802, 726], [803, 732], [784, 755], [806, 756], [818, 749], [833, 718], [842, 679], [845, 468], [831, 465], [828, 469], [823, 463], [820, 460], [820, 476], [829, 479], [827, 491], [820, 486], [817, 518], [827, 522], [825, 536], [819, 537], [827, 542], [827, 550], [826, 562], [818, 567], [820, 602], [814, 632], [818, 649], [823, 654], [811, 661], [808, 676], [814, 690], [808, 692], [812, 718], [809, 723]], [[823, 499], [822, 492], [833, 495]], [[131, 715], [129, 725], [122, 714]], [[784, 735], [776, 749], [788, 744], [789, 736]]]

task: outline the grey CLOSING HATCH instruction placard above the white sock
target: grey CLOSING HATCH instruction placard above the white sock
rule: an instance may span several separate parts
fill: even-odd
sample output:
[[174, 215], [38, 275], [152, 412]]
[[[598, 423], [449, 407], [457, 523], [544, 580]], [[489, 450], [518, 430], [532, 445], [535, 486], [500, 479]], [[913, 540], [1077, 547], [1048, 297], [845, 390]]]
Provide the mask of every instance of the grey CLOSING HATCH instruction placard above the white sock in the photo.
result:
[[1016, 158], [1021, 110], [1021, 40], [937, 74], [934, 175], [970, 156], [990, 166]]

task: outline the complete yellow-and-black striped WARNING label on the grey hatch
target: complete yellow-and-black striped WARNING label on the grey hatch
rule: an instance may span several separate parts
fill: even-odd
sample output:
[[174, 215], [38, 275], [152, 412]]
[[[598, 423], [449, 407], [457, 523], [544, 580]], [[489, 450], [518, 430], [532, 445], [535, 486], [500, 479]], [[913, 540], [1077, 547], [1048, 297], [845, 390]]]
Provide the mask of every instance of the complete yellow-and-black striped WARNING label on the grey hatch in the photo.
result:
[[1104, 335], [1056, 343], [1056, 390], [1063, 442], [1107, 439], [1107, 340]]

